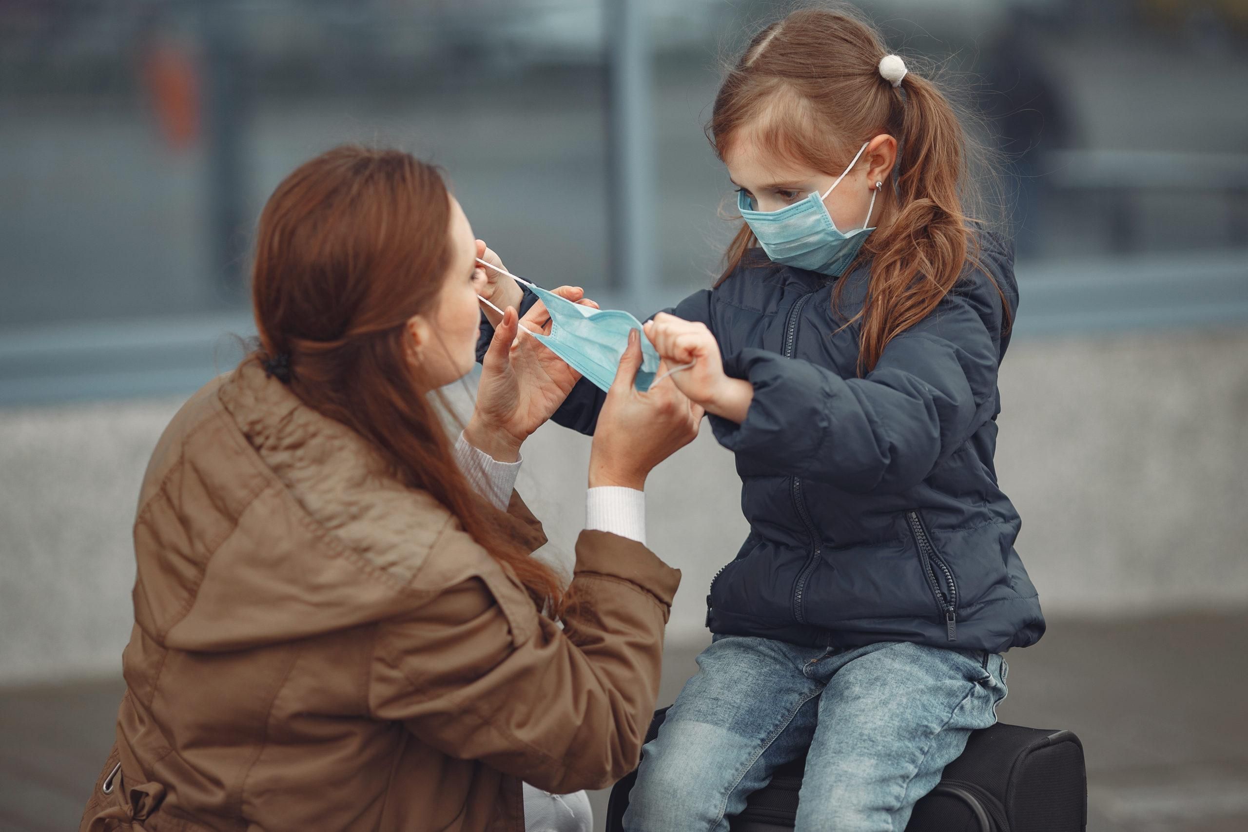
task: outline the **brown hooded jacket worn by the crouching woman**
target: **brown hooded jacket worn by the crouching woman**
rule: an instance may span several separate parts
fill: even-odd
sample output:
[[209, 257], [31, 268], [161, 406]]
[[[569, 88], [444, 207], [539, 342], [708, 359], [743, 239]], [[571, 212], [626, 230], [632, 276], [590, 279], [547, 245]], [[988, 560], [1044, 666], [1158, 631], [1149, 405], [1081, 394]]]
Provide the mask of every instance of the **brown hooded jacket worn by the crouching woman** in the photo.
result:
[[[544, 540], [515, 495], [498, 518]], [[165, 430], [135, 554], [92, 832], [520, 831], [522, 778], [602, 788], [636, 763], [680, 580], [584, 531], [560, 630], [439, 503], [247, 364]]]

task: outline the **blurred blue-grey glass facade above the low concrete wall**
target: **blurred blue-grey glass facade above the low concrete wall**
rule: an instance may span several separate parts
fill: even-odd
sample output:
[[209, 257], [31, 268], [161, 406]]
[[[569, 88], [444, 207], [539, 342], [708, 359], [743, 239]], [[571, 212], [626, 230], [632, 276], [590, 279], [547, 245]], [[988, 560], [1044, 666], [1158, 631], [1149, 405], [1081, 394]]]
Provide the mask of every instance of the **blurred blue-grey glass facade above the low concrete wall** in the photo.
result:
[[[1046, 327], [1248, 317], [1248, 2], [860, 5], [971, 79]], [[534, 281], [638, 313], [706, 286], [733, 230], [703, 135], [719, 64], [784, 7], [0, 0], [0, 404], [202, 383], [205, 344], [248, 326], [263, 200], [344, 141], [442, 165]], [[640, 140], [619, 101], [638, 55]]]

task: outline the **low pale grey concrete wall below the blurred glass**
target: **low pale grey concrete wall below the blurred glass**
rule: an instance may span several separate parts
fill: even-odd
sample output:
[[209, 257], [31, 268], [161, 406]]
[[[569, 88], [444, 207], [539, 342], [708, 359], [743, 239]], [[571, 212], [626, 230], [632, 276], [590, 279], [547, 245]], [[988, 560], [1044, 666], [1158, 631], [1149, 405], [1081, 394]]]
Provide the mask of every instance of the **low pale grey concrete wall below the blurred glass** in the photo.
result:
[[[1248, 607], [1248, 332], [1023, 341], [1001, 387], [998, 474], [1051, 616]], [[178, 404], [0, 409], [0, 685], [117, 671], [135, 498]], [[547, 425], [524, 453], [567, 566], [589, 440]], [[669, 637], [693, 639], [745, 534], [731, 455], [704, 427], [648, 495], [650, 543], [685, 575]]]

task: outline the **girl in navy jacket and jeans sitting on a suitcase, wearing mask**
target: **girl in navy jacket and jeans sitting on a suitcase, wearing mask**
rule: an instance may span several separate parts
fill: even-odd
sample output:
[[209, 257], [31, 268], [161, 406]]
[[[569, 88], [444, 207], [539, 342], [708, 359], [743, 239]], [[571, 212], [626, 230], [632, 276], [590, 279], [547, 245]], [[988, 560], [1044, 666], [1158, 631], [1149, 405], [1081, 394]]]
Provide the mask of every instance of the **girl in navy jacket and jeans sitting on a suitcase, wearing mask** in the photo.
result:
[[[1045, 630], [992, 467], [1012, 253], [968, 216], [952, 107], [852, 12], [760, 31], [709, 135], [745, 222], [646, 334], [694, 362], [671, 378], [736, 454], [750, 534], [624, 826], [728, 830], [809, 747], [797, 830], [901, 830]], [[582, 383], [555, 419], [593, 432], [600, 402]]]

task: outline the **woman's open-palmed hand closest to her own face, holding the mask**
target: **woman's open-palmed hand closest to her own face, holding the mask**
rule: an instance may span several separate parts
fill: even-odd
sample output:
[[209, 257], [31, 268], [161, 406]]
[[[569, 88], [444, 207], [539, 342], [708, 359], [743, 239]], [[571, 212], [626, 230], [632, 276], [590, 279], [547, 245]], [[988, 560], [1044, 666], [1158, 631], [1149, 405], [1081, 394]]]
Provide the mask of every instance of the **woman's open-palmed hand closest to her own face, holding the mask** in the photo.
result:
[[[574, 286], [560, 286], [554, 293], [573, 302], [597, 308], [583, 301], [584, 292]], [[580, 373], [568, 367], [547, 347], [519, 331], [550, 331], [550, 314], [538, 301], [517, 321], [514, 307], [508, 307], [494, 328], [494, 338], [482, 360], [477, 408], [464, 439], [499, 462], [514, 462], [520, 444], [549, 419]]]

